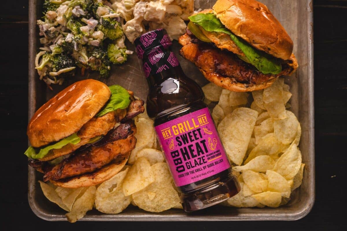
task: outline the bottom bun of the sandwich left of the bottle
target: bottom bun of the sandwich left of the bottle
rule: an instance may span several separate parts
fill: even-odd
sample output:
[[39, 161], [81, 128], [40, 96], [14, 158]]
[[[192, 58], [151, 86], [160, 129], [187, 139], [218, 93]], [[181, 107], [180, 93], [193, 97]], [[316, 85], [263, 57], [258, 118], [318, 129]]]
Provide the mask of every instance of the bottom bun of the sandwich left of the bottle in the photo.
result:
[[117, 163], [109, 163], [108, 165], [102, 167], [101, 169], [92, 172], [90, 174], [84, 174], [81, 176], [71, 177], [68, 180], [51, 180], [51, 182], [59, 187], [63, 188], [79, 188], [79, 187], [89, 187], [93, 185], [98, 185], [104, 181], [110, 179], [116, 175], [128, 161], [130, 152], [124, 156], [124, 160]]

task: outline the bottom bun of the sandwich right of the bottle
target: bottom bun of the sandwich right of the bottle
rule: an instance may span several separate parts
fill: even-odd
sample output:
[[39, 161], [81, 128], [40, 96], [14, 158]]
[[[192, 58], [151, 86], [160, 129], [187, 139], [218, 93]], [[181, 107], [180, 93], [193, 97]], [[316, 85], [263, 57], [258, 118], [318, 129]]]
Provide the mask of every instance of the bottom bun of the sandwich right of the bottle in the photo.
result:
[[203, 73], [204, 77], [213, 82], [215, 85], [225, 88], [229, 91], [236, 92], [246, 92], [246, 91], [257, 91], [268, 88], [272, 85], [274, 81], [276, 81], [277, 77], [269, 79], [266, 82], [260, 84], [249, 84], [249, 83], [240, 83], [236, 81], [232, 81], [231, 78], [223, 77], [218, 73], [206, 73], [203, 69], [199, 68], [201, 73]]

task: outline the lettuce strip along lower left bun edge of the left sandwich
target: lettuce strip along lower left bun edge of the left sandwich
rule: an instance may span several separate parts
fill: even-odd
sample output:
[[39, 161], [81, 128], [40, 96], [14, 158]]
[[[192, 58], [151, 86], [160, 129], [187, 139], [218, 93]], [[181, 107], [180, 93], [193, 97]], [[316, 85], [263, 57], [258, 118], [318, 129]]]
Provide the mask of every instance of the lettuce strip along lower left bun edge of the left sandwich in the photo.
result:
[[52, 145], [48, 145], [45, 148], [40, 149], [40, 151], [37, 153], [36, 150], [30, 146], [25, 152], [24, 154], [27, 157], [30, 157], [32, 159], [39, 159], [39, 158], [43, 158], [44, 156], [47, 155], [47, 153], [52, 150], [52, 149], [61, 149], [62, 147], [64, 147], [65, 145], [67, 145], [68, 143], [71, 144], [77, 144], [79, 143], [79, 141], [81, 141], [81, 138], [79, 138], [77, 136], [76, 133], [62, 139], [61, 141], [52, 144]]

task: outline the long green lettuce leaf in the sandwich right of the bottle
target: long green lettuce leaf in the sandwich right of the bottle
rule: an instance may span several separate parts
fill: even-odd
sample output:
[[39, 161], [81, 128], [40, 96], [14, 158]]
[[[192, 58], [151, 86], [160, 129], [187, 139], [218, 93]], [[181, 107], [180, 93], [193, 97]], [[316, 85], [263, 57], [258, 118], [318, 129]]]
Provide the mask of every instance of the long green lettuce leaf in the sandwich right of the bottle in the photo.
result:
[[242, 38], [237, 37], [228, 30], [214, 14], [197, 14], [189, 19], [209, 32], [225, 33], [230, 35], [232, 41], [245, 54], [249, 63], [256, 67], [263, 74], [278, 74], [282, 71], [281, 63], [269, 54], [256, 50]]

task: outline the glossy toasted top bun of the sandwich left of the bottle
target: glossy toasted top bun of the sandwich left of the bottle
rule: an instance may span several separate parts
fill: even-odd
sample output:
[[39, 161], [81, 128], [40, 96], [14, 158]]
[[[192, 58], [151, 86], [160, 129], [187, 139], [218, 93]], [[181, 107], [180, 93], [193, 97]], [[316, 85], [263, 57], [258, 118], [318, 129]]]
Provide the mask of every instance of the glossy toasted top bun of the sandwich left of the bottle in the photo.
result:
[[107, 85], [93, 79], [78, 81], [65, 88], [31, 118], [27, 128], [31, 145], [40, 147], [78, 132], [110, 96]]

